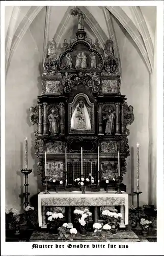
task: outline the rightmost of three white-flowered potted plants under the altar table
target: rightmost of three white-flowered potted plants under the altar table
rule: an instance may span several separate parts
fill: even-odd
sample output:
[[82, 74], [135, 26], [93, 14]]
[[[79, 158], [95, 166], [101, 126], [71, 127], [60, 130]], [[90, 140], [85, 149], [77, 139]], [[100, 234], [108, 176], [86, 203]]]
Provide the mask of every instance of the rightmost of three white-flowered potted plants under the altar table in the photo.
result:
[[122, 214], [117, 214], [117, 212], [112, 212], [110, 210], [103, 210], [102, 218], [105, 224], [111, 226], [111, 232], [117, 233], [122, 218]]

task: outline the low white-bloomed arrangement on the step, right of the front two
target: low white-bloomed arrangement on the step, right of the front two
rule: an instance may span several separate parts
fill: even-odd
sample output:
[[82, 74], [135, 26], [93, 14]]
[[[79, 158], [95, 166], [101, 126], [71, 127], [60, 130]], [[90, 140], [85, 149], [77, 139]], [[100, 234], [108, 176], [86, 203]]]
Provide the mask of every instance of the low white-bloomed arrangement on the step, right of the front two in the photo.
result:
[[93, 224], [94, 233], [92, 236], [98, 238], [100, 241], [106, 241], [107, 233], [111, 230], [111, 226], [109, 224], [102, 225], [101, 223]]

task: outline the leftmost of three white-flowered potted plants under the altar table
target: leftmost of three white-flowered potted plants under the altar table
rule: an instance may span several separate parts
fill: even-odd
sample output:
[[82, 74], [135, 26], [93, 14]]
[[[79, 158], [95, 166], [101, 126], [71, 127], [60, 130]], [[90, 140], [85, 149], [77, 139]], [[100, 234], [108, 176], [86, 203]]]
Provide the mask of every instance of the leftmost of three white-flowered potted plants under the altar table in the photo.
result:
[[63, 214], [61, 212], [51, 212], [47, 211], [46, 212], [47, 217], [47, 225], [50, 226], [50, 232], [54, 235], [57, 236], [59, 233], [58, 228], [61, 226], [63, 222]]

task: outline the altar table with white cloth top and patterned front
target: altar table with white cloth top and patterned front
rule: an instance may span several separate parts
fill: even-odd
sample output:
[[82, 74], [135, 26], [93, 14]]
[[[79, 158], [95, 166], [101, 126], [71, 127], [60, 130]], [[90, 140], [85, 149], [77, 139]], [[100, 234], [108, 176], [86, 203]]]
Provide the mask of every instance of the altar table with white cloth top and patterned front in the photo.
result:
[[[81, 194], [81, 191], [59, 191], [58, 193], [49, 192], [49, 194], [41, 192], [38, 195], [39, 226], [46, 227], [45, 206], [95, 206], [94, 222], [97, 222], [98, 206], [120, 206], [120, 212], [122, 214], [120, 228], [124, 228], [125, 225], [128, 225], [128, 194], [124, 191], [122, 191], [122, 194], [115, 193], [116, 191], [109, 191], [108, 193], [105, 191], [87, 191], [86, 194]], [[44, 214], [42, 214], [42, 212], [44, 212]], [[70, 218], [69, 215], [69, 222], [71, 222]]]

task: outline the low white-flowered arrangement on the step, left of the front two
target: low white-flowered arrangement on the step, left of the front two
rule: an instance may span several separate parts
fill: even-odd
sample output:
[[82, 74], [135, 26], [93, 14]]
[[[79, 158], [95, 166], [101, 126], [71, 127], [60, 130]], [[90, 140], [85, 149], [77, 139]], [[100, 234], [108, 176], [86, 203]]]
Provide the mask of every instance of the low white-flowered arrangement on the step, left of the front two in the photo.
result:
[[59, 237], [58, 239], [62, 239], [62, 241], [66, 241], [69, 239], [70, 241], [73, 241], [75, 238], [75, 235], [77, 234], [76, 228], [68, 229], [69, 225], [68, 223], [64, 223], [62, 227], [59, 227]]

